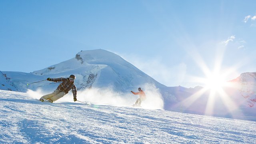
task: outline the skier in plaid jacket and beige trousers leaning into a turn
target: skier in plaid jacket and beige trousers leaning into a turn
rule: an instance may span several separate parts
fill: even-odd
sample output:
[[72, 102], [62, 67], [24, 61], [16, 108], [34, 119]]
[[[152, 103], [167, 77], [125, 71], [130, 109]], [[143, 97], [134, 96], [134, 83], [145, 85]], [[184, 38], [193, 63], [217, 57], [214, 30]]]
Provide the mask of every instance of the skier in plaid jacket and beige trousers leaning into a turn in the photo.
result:
[[69, 90], [72, 89], [74, 102], [76, 101], [76, 86], [74, 84], [74, 80], [76, 79], [76, 76], [71, 74], [69, 78], [47, 78], [47, 80], [52, 82], [62, 82], [56, 90], [54, 90], [53, 93], [47, 94], [45, 96], [42, 96], [40, 98], [41, 102], [44, 102], [44, 100], [48, 100], [49, 102], [54, 102], [60, 98], [62, 98], [64, 95], [68, 93]]

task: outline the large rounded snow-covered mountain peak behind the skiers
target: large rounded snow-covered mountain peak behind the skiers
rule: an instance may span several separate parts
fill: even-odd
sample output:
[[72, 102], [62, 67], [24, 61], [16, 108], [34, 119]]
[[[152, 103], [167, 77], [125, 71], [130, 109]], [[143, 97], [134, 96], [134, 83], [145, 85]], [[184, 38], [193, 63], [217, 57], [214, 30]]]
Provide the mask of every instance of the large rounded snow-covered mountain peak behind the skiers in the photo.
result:
[[56, 85], [49, 84], [49, 82], [29, 86], [27, 83], [44, 80], [48, 77], [68, 77], [70, 74], [76, 76], [75, 84], [78, 90], [91, 87], [112, 87], [117, 91], [130, 92], [138, 87], [143, 87], [146, 83], [154, 84], [157, 88], [165, 87], [117, 54], [102, 49], [81, 51], [70, 60], [29, 74], [4, 73], [12, 78], [12, 82], [17, 84], [22, 92], [27, 89], [36, 90], [38, 87], [42, 90], [56, 88]]

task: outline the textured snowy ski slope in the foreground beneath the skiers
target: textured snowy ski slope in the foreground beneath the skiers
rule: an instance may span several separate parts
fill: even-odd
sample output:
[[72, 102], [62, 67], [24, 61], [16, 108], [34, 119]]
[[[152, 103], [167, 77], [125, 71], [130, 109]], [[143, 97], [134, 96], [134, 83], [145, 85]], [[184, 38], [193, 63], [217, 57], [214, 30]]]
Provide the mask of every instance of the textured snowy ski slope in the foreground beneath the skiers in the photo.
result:
[[0, 90], [0, 143], [256, 143], [256, 122], [133, 107], [49, 103]]

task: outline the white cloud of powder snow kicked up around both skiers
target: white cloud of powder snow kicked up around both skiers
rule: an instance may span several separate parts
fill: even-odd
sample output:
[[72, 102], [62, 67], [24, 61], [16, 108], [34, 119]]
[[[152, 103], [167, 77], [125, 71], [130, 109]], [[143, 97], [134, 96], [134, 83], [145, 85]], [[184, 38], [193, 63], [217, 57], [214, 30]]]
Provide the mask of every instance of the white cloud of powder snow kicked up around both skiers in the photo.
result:
[[[163, 109], [164, 102], [162, 100], [162, 95], [159, 92], [159, 89], [154, 86], [154, 84], [144, 84], [140, 86], [142, 90], [146, 94], [146, 100], [144, 100], [141, 104], [142, 108], [146, 109]], [[133, 90], [134, 92], [138, 92], [138, 90]], [[42, 90], [38, 89], [36, 91], [28, 90], [27, 94], [32, 99], [40, 99], [40, 97], [50, 94], [51, 92], [42, 92]], [[113, 90], [112, 87], [105, 88], [88, 88], [86, 90], [78, 90], [77, 92], [77, 100], [81, 102], [90, 102], [92, 104], [98, 105], [111, 105], [111, 106], [131, 106], [136, 102], [139, 98], [138, 95], [134, 95], [132, 93], [124, 93]], [[73, 94], [69, 92], [59, 100], [54, 103], [60, 102], [74, 102]]]

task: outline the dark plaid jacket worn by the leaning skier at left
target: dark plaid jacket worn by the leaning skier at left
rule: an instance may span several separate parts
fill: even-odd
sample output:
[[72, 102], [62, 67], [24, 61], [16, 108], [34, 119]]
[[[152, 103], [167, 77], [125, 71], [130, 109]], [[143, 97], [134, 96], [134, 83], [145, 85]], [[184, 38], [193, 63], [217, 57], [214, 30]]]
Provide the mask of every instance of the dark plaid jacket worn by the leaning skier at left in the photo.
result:
[[69, 78], [52, 78], [51, 81], [62, 82], [56, 90], [60, 90], [67, 94], [68, 91], [70, 91], [72, 89], [73, 96], [74, 96], [74, 98], [76, 97], [76, 86], [75, 86], [74, 82], [72, 82], [72, 83], [69, 82]]

